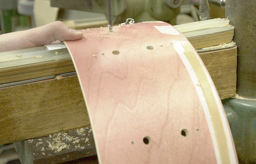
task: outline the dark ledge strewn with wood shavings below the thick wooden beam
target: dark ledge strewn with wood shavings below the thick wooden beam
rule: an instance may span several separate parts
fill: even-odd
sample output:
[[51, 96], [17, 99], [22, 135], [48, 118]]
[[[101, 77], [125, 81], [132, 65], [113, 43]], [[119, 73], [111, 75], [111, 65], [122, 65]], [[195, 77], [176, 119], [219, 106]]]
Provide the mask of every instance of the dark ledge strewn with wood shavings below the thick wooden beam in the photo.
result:
[[90, 127], [14, 143], [22, 163], [57, 164], [96, 155]]

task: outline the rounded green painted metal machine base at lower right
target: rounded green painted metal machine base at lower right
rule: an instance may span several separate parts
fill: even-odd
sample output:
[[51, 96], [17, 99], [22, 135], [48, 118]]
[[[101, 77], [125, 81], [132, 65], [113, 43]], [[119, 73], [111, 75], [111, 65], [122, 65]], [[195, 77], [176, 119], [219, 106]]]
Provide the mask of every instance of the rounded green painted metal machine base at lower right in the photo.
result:
[[240, 164], [256, 163], [256, 101], [226, 99], [222, 104], [229, 121]]

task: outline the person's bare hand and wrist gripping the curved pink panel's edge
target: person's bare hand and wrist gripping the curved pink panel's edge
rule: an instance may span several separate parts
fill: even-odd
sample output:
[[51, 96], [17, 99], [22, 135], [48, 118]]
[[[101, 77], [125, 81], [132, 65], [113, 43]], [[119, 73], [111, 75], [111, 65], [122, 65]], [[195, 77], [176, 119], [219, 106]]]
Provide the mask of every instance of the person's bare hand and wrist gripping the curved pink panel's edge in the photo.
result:
[[78, 40], [82, 37], [81, 31], [55, 21], [41, 27], [0, 35], [0, 52], [44, 46], [55, 41]]

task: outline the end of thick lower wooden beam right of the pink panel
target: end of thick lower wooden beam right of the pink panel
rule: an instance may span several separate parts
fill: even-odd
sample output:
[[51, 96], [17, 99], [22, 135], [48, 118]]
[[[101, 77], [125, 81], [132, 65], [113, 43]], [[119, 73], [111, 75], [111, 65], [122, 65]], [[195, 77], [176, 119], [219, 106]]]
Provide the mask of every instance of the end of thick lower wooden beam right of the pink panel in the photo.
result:
[[221, 99], [236, 94], [237, 47], [198, 53], [204, 62]]

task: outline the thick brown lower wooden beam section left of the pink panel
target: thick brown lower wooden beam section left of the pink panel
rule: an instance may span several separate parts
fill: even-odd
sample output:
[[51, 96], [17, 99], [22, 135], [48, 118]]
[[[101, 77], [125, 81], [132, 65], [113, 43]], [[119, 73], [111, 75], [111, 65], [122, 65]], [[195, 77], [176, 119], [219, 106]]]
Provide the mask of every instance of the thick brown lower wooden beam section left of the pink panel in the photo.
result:
[[58, 79], [0, 88], [0, 144], [90, 125], [77, 77]]

